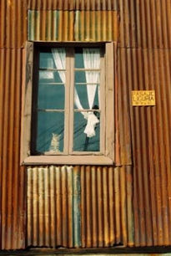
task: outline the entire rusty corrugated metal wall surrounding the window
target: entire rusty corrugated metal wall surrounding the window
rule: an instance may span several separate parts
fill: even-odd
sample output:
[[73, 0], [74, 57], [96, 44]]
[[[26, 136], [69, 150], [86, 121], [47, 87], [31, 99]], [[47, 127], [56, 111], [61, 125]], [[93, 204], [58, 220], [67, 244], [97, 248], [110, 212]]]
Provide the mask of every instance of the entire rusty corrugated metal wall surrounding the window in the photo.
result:
[[[28, 8], [34, 10], [29, 16]], [[61, 33], [61, 38], [59, 37], [58, 40], [117, 40], [119, 37], [118, 41], [120, 43], [115, 90], [115, 124], [117, 162], [118, 165], [123, 166], [113, 170], [107, 167], [102, 170], [100, 166], [97, 169], [90, 166], [76, 168], [77, 172], [80, 173], [80, 189], [82, 192], [80, 219], [83, 227], [81, 229], [81, 239], [76, 246], [80, 244], [82, 247], [107, 246], [108, 244], [118, 243], [119, 240], [125, 246], [133, 244], [135, 246], [171, 244], [170, 0], [2, 0], [0, 10], [1, 248], [24, 248], [25, 246], [24, 204], [26, 202], [26, 182], [24, 182], [24, 173], [26, 171], [19, 166], [21, 92], [24, 68], [23, 46], [28, 34], [28, 20], [30, 23], [37, 22], [35, 17], [38, 10], [41, 12], [37, 16], [40, 17], [40, 28], [36, 28], [33, 33], [31, 33], [32, 29], [29, 30], [29, 36], [34, 36], [34, 39], [41, 37], [45, 40], [49, 38], [57, 39]], [[111, 16], [108, 16], [105, 10], [111, 13]], [[58, 15], [58, 13], [63, 14]], [[58, 25], [58, 16], [60, 17], [60, 15], [62, 20], [68, 24], [64, 29], [62, 29], [62, 25], [59, 27], [61, 32], [53, 27], [55, 24]], [[118, 20], [118, 16], [119, 24], [116, 26], [115, 20]], [[31, 20], [30, 17], [32, 17]], [[44, 19], [44, 17], [47, 19]], [[97, 23], [97, 30], [96, 25], [94, 25], [92, 30], [89, 31], [88, 24], [85, 23], [85, 17], [89, 21], [93, 21], [94, 24], [101, 20], [101, 27], [98, 28]], [[68, 22], [68, 18], [69, 21], [72, 21], [72, 26]], [[35, 22], [33, 22], [34, 20]], [[52, 33], [48, 33], [48, 30], [46, 32], [46, 29], [43, 30], [41, 27], [48, 20], [48, 24], [52, 28], [49, 31]], [[108, 24], [108, 21], [110, 26], [105, 25]], [[104, 23], [102, 24], [102, 22]], [[156, 106], [130, 106], [130, 91], [135, 89], [155, 90]], [[133, 148], [131, 148], [131, 139]], [[132, 164], [132, 152], [133, 170], [130, 166]], [[36, 168], [35, 170], [39, 169]], [[60, 170], [62, 176], [64, 171]], [[72, 173], [76, 172], [74, 170]], [[28, 172], [31, 171], [28, 170]], [[131, 187], [132, 172], [133, 189]], [[55, 171], [53, 171], [53, 174], [55, 175]], [[36, 177], [36, 174], [34, 175]], [[110, 184], [110, 176], [113, 177], [113, 185]], [[65, 179], [64, 177], [63, 179]], [[88, 179], [90, 179], [90, 183]], [[100, 179], [107, 181], [106, 186], [104, 184], [99, 185]], [[117, 179], [118, 182], [116, 182]], [[68, 182], [68, 180], [65, 181]], [[33, 186], [37, 186], [36, 184], [37, 182], [34, 182]], [[83, 193], [83, 186], [91, 187], [90, 191], [88, 190], [89, 193]], [[119, 189], [117, 198], [115, 198], [115, 194], [112, 195], [112, 190], [110, 190], [112, 186], [113, 191]], [[38, 189], [43, 189], [43, 187]], [[49, 192], [53, 194], [53, 191], [49, 190]], [[103, 198], [106, 198], [103, 202], [99, 202], [98, 192], [103, 194]], [[134, 232], [133, 223], [130, 221], [130, 216], [132, 216], [130, 201], [132, 192]], [[73, 191], [72, 193], [74, 194]], [[91, 197], [90, 201], [88, 201], [88, 197]], [[31, 203], [32, 197], [28, 198], [30, 198]], [[39, 203], [50, 203], [48, 199], [47, 196], [46, 200], [40, 200]], [[68, 203], [77, 202], [72, 201], [71, 198], [69, 200]], [[98, 206], [102, 203], [102, 210], [96, 212], [96, 208], [92, 207], [93, 203]], [[43, 207], [43, 205], [36, 207]], [[36, 211], [36, 207], [33, 207], [30, 211]], [[112, 217], [113, 207], [116, 208], [116, 212], [113, 212]], [[108, 215], [103, 214], [106, 209], [108, 209]], [[63, 211], [63, 207], [61, 207], [61, 210]], [[55, 212], [53, 208], [51, 211]], [[47, 216], [47, 223], [52, 221], [52, 216], [45, 213], [43, 212], [42, 217]], [[36, 215], [33, 215], [33, 212], [30, 214], [32, 224], [29, 227], [33, 228], [34, 223], [40, 217], [38, 212]], [[54, 214], [57, 214], [57, 212]], [[57, 217], [57, 215], [54, 216]], [[68, 215], [68, 219], [69, 216], [71, 215]], [[98, 216], [98, 218], [96, 219], [95, 216]], [[88, 218], [90, 222], [96, 220], [96, 222], [93, 221], [92, 227], [85, 221]], [[103, 225], [100, 226], [100, 218], [102, 218], [103, 223], [107, 221], [105, 228], [103, 228]], [[67, 233], [71, 232], [73, 229], [71, 227], [69, 229], [68, 226], [64, 227], [65, 224], [68, 225], [62, 222], [63, 230]], [[42, 228], [41, 226], [38, 227]], [[29, 229], [27, 230], [29, 231]], [[87, 230], [86, 233], [85, 230]], [[31, 244], [33, 243], [34, 228], [29, 232], [30, 240], [28, 240], [28, 243]], [[47, 241], [43, 233], [37, 232], [36, 235], [39, 235], [38, 245], [43, 244], [40, 241], [44, 243]], [[54, 238], [50, 235], [48, 239], [51, 239], [48, 241], [52, 242], [46, 242], [46, 244], [55, 244]], [[73, 243], [68, 241], [63, 244], [70, 246]], [[75, 246], [75, 242], [73, 246]]]

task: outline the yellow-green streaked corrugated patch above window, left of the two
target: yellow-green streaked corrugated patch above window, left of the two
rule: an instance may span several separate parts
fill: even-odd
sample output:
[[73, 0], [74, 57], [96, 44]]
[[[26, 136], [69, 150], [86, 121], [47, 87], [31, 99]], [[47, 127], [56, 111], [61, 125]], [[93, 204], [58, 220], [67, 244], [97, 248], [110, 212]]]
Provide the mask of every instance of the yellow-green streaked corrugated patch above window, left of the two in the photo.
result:
[[28, 11], [28, 39], [73, 41], [73, 22], [73, 12]]

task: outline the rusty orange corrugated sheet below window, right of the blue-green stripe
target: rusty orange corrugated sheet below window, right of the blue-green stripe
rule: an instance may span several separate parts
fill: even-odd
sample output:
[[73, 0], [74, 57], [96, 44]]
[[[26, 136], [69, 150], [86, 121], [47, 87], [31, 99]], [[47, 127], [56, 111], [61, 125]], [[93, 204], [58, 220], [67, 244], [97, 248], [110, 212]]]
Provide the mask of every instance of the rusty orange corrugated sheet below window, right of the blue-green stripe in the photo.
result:
[[130, 167], [82, 166], [82, 247], [133, 245]]

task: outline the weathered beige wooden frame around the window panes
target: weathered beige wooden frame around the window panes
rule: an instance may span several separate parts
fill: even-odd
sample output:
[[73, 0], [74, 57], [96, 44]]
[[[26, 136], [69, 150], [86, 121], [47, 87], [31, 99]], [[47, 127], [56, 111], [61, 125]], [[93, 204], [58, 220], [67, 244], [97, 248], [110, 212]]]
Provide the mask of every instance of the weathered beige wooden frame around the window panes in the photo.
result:
[[[105, 76], [103, 77], [103, 92], [105, 95], [105, 104], [103, 108], [103, 125], [100, 129], [100, 144], [103, 152], [72, 152], [69, 148], [69, 154], [60, 155], [31, 155], [31, 128], [32, 128], [32, 109], [33, 109], [33, 76], [38, 75], [38, 67], [35, 67], [34, 59], [38, 58], [38, 47], [104, 47], [103, 69]], [[71, 164], [71, 165], [113, 165], [114, 164], [114, 43], [33, 43], [27, 42], [25, 54], [25, 80], [23, 81], [23, 118], [22, 118], [22, 140], [21, 140], [21, 164], [22, 165], [49, 165], [49, 164]], [[68, 67], [67, 67], [68, 69]], [[37, 72], [37, 73], [35, 73]], [[101, 81], [100, 81], [101, 82]], [[100, 83], [101, 84], [101, 83]], [[69, 97], [68, 94], [66, 94]], [[71, 95], [71, 94], [70, 94]], [[73, 103], [73, 95], [70, 96]], [[65, 100], [65, 101], [68, 101]], [[65, 108], [70, 107], [65, 105]], [[68, 120], [68, 119], [67, 119]], [[65, 118], [66, 121], [66, 118]], [[66, 123], [65, 123], [66, 125]], [[69, 125], [68, 125], [69, 129]], [[73, 129], [73, 128], [72, 128]], [[65, 129], [66, 130], [66, 129]], [[102, 136], [104, 138], [102, 140]], [[68, 132], [65, 134], [68, 136]], [[67, 140], [69, 138], [67, 137]], [[73, 139], [72, 139], [73, 140]], [[72, 145], [71, 136], [69, 145]], [[103, 146], [102, 146], [103, 145]]]

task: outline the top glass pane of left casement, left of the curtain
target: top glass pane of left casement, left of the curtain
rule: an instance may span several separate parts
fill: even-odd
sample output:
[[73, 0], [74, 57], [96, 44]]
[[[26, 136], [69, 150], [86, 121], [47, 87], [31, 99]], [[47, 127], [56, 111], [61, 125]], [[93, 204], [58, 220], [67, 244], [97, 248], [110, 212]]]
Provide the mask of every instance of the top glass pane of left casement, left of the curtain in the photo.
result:
[[40, 53], [39, 55], [39, 67], [41, 69], [56, 69], [53, 54], [52, 53]]

